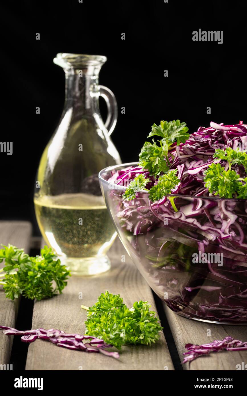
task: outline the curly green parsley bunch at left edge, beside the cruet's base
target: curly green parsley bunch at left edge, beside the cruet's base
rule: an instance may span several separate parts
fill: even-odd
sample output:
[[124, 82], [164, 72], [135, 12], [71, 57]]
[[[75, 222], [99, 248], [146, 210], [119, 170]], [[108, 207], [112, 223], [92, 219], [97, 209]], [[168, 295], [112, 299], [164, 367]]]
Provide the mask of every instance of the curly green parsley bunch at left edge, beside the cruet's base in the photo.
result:
[[44, 246], [40, 256], [30, 257], [16, 246], [2, 246], [0, 263], [5, 260], [5, 267], [0, 270], [0, 284], [7, 298], [14, 300], [23, 295], [42, 300], [62, 293], [70, 272], [51, 248]]

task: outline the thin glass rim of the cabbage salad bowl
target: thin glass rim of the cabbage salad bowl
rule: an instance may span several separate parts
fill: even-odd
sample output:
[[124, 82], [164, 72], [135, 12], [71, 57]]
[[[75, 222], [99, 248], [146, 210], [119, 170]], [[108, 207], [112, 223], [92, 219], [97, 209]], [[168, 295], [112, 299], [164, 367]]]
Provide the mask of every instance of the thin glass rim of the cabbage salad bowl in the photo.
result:
[[[124, 167], [127, 168], [128, 166], [137, 166], [138, 162], [126, 162], [124, 164], [116, 164], [116, 165], [111, 165], [111, 166], [106, 166], [106, 168], [101, 169], [101, 171], [99, 171], [98, 173], [98, 177], [101, 180], [102, 183], [105, 183], [106, 185], [112, 185], [112, 186], [116, 186], [116, 190], [120, 189], [120, 185], [119, 184], [115, 184], [115, 183], [109, 183], [108, 180], [103, 179], [102, 174], [106, 173], [108, 171], [112, 171], [113, 169], [116, 169], [118, 167]], [[127, 188], [127, 186], [121, 186], [124, 190]], [[148, 194], [149, 192], [145, 191], [145, 190], [140, 190], [139, 192], [142, 192], [142, 194]], [[220, 197], [215, 197], [215, 196], [194, 196], [194, 195], [186, 195], [186, 194], [167, 194], [167, 196], [171, 196], [171, 197], [177, 197], [177, 198], [196, 198], [196, 199], [209, 199], [209, 200], [222, 200], [222, 201], [237, 201], [237, 202], [246, 202], [247, 200], [244, 198], [220, 198]]]

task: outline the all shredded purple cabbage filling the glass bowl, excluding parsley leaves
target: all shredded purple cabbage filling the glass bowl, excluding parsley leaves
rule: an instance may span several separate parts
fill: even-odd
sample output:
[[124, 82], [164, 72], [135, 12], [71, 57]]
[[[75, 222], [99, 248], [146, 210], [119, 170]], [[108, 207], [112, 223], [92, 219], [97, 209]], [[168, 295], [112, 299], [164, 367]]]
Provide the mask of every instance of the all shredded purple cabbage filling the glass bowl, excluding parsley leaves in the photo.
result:
[[[169, 151], [171, 169], [180, 183], [171, 191], [178, 211], [164, 197], [151, 202], [148, 192], [132, 201], [122, 199], [123, 183], [143, 173], [141, 166], [111, 171], [106, 180], [119, 185], [110, 192], [114, 222], [133, 261], [152, 289], [175, 312], [189, 318], [224, 323], [247, 323], [247, 201], [215, 198], [203, 182], [203, 172], [221, 161], [215, 149], [247, 147], [247, 125], [216, 124], [200, 127]], [[243, 166], [232, 166], [246, 177]], [[107, 194], [105, 194], [107, 196]], [[223, 255], [222, 266], [206, 260], [192, 263], [193, 253]], [[164, 297], [168, 295], [168, 297]]]

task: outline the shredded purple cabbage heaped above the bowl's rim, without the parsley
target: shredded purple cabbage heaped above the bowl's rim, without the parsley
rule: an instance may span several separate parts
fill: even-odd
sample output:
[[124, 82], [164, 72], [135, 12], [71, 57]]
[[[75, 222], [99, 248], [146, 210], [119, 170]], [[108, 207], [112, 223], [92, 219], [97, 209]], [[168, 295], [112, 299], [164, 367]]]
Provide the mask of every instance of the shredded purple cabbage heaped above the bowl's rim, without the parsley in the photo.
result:
[[[239, 121], [237, 125], [210, 123], [209, 128], [200, 127], [198, 131], [192, 133], [190, 138], [179, 146], [173, 147], [169, 151], [169, 161], [172, 162], [170, 169], [178, 169], [178, 177], [181, 181], [179, 187], [176, 187], [173, 194], [186, 194], [192, 196], [212, 196], [209, 194], [208, 188], [203, 183], [203, 172], [212, 163], [219, 163], [221, 160], [213, 158], [213, 154], [217, 148], [224, 150], [231, 147], [234, 150], [238, 147], [240, 150], [247, 148], [247, 125], [243, 125]], [[228, 168], [226, 161], [222, 161], [224, 166]], [[242, 166], [236, 166], [239, 175], [245, 176]], [[121, 171], [114, 172], [112, 177], [108, 179], [109, 183], [123, 185], [124, 181], [131, 181], [137, 175], [143, 173], [146, 179], [150, 178], [152, 183], [147, 188], [152, 187], [156, 180], [149, 176], [149, 172], [143, 170], [141, 166], [128, 167]]]

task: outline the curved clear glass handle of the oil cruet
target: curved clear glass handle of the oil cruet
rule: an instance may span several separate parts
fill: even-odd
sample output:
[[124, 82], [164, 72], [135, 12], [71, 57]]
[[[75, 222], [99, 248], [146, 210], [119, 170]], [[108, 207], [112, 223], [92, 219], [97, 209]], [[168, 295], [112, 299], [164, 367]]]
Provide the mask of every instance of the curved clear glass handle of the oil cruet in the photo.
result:
[[108, 130], [108, 135], [110, 136], [116, 126], [118, 119], [118, 105], [114, 93], [103, 85], [99, 85], [99, 94], [106, 101], [106, 106], [108, 110], [105, 127]]

